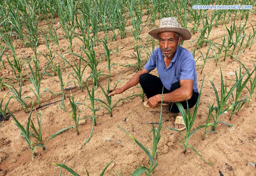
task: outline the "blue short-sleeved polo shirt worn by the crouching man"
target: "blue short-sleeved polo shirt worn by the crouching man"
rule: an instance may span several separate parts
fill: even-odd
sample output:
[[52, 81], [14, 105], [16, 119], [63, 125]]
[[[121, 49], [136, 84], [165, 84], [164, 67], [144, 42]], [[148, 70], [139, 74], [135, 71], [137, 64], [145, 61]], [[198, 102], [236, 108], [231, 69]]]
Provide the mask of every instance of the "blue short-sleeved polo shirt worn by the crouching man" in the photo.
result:
[[180, 45], [178, 45], [168, 68], [164, 63], [164, 55], [160, 47], [152, 52], [144, 68], [148, 71], [156, 68], [164, 87], [168, 90], [170, 90], [173, 83], [181, 79], [192, 79], [194, 81], [193, 90], [198, 92], [195, 59], [191, 52]]

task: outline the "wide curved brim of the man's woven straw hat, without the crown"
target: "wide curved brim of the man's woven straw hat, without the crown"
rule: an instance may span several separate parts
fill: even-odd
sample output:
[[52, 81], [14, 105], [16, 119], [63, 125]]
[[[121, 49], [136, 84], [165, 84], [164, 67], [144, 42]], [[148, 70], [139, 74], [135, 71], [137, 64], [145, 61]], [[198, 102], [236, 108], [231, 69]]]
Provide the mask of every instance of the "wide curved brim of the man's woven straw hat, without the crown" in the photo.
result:
[[178, 27], [164, 27], [164, 28], [155, 28], [148, 32], [149, 35], [154, 37], [155, 39], [160, 39], [158, 33], [160, 32], [177, 32], [182, 35], [182, 40], [189, 40], [191, 39], [191, 33], [189, 30], [185, 28], [178, 28]]

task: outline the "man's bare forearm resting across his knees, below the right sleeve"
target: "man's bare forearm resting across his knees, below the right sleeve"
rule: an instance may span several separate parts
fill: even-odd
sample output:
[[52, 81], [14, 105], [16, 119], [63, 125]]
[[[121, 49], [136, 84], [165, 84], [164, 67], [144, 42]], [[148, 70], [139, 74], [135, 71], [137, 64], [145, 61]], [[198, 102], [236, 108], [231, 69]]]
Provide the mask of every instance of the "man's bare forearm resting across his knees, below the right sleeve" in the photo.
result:
[[[176, 102], [185, 101], [186, 96], [187, 96], [187, 99], [190, 99], [192, 96], [192, 93], [190, 93], [189, 91], [186, 91], [186, 94], [185, 94], [185, 89], [180, 87], [170, 93], [163, 94], [163, 102], [176, 103]], [[162, 94], [156, 95], [156, 98], [157, 98], [157, 101], [161, 102]]]

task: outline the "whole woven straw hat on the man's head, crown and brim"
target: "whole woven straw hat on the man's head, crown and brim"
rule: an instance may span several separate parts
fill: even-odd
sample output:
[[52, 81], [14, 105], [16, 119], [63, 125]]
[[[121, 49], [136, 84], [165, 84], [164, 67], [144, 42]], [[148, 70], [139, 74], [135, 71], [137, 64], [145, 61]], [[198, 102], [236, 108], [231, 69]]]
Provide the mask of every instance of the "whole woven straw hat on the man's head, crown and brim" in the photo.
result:
[[158, 36], [158, 33], [168, 31], [179, 33], [180, 35], [182, 35], [182, 40], [191, 39], [190, 31], [185, 28], [179, 27], [179, 23], [177, 22], [175, 17], [162, 18], [159, 28], [155, 28], [148, 33], [155, 39], [159, 40], [160, 38]]

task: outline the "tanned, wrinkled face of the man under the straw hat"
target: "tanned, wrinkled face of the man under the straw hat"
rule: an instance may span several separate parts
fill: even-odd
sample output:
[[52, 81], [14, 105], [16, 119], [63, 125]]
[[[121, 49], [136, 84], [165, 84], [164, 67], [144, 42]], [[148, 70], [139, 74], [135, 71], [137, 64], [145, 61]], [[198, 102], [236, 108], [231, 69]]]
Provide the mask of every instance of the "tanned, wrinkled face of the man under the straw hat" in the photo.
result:
[[[178, 47], [178, 41], [175, 32], [160, 32], [159, 37], [159, 46], [163, 55], [166, 57], [172, 56]], [[179, 41], [181, 40], [182, 36], [179, 37]]]

